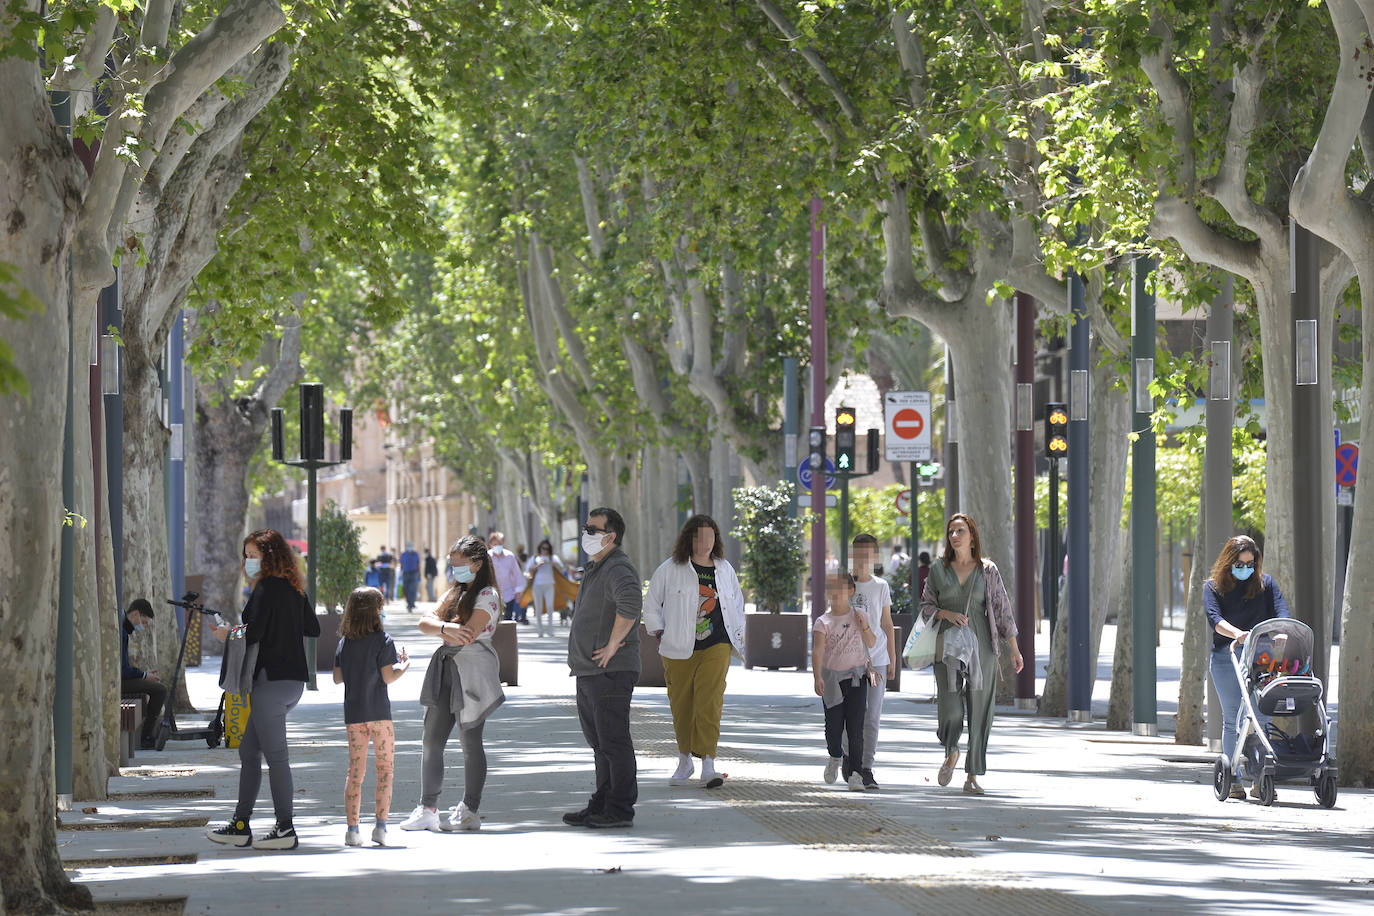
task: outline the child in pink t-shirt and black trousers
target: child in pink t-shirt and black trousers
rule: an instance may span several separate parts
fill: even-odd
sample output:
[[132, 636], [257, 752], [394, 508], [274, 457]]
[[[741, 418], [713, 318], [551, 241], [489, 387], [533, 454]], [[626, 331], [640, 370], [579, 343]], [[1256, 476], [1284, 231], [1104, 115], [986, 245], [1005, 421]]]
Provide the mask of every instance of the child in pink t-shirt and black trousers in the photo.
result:
[[[855, 580], [849, 573], [826, 575], [826, 599], [830, 610], [816, 618], [811, 637], [811, 670], [816, 677], [816, 696], [826, 707], [824, 779], [834, 783], [844, 768], [845, 783], [856, 792], [864, 790], [856, 772], [863, 765], [863, 721], [868, 703], [868, 684], [875, 677], [868, 650], [878, 637], [861, 608], [851, 607]], [[841, 735], [849, 736], [849, 754], [844, 754]]]

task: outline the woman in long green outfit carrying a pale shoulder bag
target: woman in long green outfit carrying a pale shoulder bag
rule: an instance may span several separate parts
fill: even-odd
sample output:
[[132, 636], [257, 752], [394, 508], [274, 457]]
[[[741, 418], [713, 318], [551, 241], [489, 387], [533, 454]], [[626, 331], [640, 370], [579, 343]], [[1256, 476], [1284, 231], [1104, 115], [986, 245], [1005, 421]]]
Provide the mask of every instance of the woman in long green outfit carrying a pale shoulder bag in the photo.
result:
[[982, 556], [978, 526], [962, 512], [949, 516], [945, 525], [944, 556], [930, 566], [926, 588], [921, 593], [921, 618], [934, 619], [943, 630], [955, 626], [973, 628], [978, 656], [969, 663], [969, 673], [981, 670], [980, 678], [951, 672], [943, 659], [934, 663], [936, 691], [940, 696], [937, 735], [945, 750], [938, 781], [948, 786], [959, 762], [959, 739], [963, 736], [965, 717], [969, 721], [969, 755], [963, 791], [982, 795], [978, 776], [988, 772], [988, 731], [998, 695], [998, 658], [1002, 644], [1011, 652], [1011, 665], [1020, 673], [1024, 665], [1017, 647], [1017, 621], [1011, 614], [1011, 599], [1002, 584], [996, 563]]

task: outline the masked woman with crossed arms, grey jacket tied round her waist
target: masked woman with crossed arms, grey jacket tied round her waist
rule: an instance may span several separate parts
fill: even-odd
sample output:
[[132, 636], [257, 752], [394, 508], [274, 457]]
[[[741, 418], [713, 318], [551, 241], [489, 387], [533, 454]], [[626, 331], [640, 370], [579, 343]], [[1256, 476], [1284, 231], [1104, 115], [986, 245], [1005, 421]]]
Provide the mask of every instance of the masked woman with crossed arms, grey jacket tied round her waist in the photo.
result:
[[[434, 611], [422, 614], [420, 633], [438, 636], [420, 706], [425, 707], [425, 739], [420, 748], [420, 803], [401, 821], [401, 829], [477, 831], [477, 810], [486, 786], [486, 748], [482, 728], [506, 702], [500, 659], [492, 634], [502, 617], [502, 597], [486, 544], [475, 534], [460, 538], [448, 552], [455, 585]], [[444, 748], [458, 726], [463, 747], [463, 801], [440, 823], [438, 797], [444, 788]]]

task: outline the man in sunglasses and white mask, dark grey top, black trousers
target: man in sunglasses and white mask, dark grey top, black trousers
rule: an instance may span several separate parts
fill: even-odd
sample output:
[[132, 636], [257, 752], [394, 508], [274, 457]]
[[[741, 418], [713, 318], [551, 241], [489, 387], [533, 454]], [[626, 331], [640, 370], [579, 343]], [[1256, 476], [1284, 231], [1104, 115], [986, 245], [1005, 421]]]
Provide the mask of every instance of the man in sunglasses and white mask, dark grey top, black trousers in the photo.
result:
[[573, 604], [567, 667], [577, 678], [577, 718], [596, 762], [596, 791], [587, 808], [563, 814], [572, 827], [631, 827], [639, 799], [629, 700], [639, 681], [639, 618], [644, 593], [621, 549], [625, 519], [595, 508], [583, 529], [591, 558]]

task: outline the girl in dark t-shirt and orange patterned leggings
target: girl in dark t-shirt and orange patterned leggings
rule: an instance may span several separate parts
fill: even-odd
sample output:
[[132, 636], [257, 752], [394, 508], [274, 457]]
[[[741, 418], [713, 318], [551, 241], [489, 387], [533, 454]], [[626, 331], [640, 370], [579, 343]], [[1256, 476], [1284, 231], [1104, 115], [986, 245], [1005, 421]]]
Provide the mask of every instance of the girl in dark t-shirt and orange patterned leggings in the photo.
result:
[[376, 758], [376, 825], [372, 842], [386, 846], [386, 817], [392, 808], [392, 773], [396, 755], [396, 731], [392, 726], [392, 700], [386, 685], [411, 666], [405, 650], [396, 651], [392, 637], [382, 629], [385, 599], [375, 588], [356, 588], [344, 604], [339, 623], [339, 647], [334, 652], [334, 683], [344, 685], [344, 722], [348, 726], [348, 780], [344, 783], [344, 808], [348, 813], [346, 846], [361, 846], [359, 817], [363, 809], [363, 775], [367, 772], [367, 746]]

